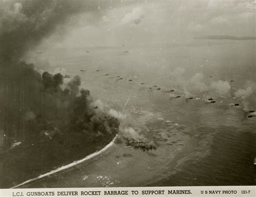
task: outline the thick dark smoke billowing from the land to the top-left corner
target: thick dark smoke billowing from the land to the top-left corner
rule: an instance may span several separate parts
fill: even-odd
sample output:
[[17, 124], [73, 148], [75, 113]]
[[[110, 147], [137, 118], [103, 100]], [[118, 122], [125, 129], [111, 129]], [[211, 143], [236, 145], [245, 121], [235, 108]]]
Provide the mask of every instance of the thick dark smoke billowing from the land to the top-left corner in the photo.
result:
[[[0, 9], [0, 130], [6, 146], [9, 139], [25, 140], [37, 131], [71, 130], [110, 132], [118, 128], [117, 119], [97, 114], [91, 108], [89, 90], [79, 88], [75, 76], [63, 84], [64, 70], [54, 74], [37, 72], [23, 56], [57, 28], [65, 26], [69, 16], [84, 11], [85, 1], [4, 1]], [[90, 2], [89, 9], [94, 8]], [[64, 87], [64, 88], [63, 88]], [[66, 120], [63, 123], [63, 120]]]

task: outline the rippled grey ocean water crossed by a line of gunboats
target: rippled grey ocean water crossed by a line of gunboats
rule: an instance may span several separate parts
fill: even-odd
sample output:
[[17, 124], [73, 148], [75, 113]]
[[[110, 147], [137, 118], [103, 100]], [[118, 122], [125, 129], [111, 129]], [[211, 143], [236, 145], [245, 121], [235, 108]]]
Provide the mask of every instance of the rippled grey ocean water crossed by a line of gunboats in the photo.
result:
[[[233, 98], [237, 89], [255, 82], [255, 55], [255, 41], [237, 40], [28, 54], [31, 62], [49, 60], [50, 66], [38, 69], [62, 67], [65, 74], [80, 75], [82, 87], [114, 110], [122, 112], [131, 95], [126, 126], [158, 148], [144, 152], [118, 140], [95, 158], [23, 187], [255, 185], [256, 117], [248, 118], [243, 108], [255, 110], [256, 95]], [[227, 81], [230, 92], [199, 91], [191, 84], [197, 73], [207, 87]], [[185, 97], [187, 91], [193, 99]], [[215, 103], [206, 102], [210, 97]]]

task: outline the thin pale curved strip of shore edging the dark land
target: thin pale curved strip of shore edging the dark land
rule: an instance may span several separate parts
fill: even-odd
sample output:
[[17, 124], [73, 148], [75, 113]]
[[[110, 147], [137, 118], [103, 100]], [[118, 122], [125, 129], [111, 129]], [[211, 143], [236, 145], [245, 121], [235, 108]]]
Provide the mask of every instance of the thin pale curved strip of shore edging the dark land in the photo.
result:
[[77, 161], [73, 161], [72, 163], [67, 164], [67, 165], [65, 165], [65, 166], [58, 167], [56, 170], [52, 170], [52, 171], [50, 171], [50, 172], [48, 172], [48, 173], [39, 175], [39, 177], [26, 180], [26, 181], [22, 182], [22, 183], [19, 184], [19, 185], [16, 185], [16, 186], [14, 186], [14, 187], [11, 187], [11, 189], [12, 189], [12, 188], [17, 188], [17, 187], [22, 186], [22, 185], [25, 185], [25, 184], [28, 184], [29, 182], [35, 181], [35, 180], [37, 180], [37, 179], [41, 179], [41, 178], [46, 177], [46, 176], [48, 176], [48, 175], [51, 175], [51, 174], [53, 174], [53, 173], [56, 173], [56, 172], [65, 170], [65, 169], [67, 169], [67, 168], [70, 168], [70, 167], [72, 167], [72, 166], [75, 166], [75, 165], [77, 165], [77, 164], [80, 164], [80, 163], [82, 163], [82, 162], [85, 161], [85, 160], [91, 159], [91, 158], [97, 156], [98, 154], [104, 152], [105, 150], [107, 150], [110, 146], [112, 146], [112, 145], [114, 144], [114, 141], [117, 139], [117, 136], [118, 136], [118, 134], [117, 134], [117, 135], [112, 139], [112, 141], [111, 141], [109, 144], [107, 144], [102, 150], [93, 152], [93, 153], [89, 154], [88, 156], [86, 156], [85, 158], [80, 159], [80, 160], [77, 160]]

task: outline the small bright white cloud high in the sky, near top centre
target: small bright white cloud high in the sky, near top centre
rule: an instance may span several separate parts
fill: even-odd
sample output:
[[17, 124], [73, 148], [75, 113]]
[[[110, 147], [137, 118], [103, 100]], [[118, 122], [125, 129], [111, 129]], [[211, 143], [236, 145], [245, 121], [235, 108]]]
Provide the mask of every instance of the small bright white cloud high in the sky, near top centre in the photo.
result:
[[142, 19], [144, 18], [144, 10], [141, 7], [133, 8], [132, 12], [126, 13], [124, 18], [121, 21], [121, 24], [126, 23], [134, 23], [138, 25], [140, 22], [142, 22]]

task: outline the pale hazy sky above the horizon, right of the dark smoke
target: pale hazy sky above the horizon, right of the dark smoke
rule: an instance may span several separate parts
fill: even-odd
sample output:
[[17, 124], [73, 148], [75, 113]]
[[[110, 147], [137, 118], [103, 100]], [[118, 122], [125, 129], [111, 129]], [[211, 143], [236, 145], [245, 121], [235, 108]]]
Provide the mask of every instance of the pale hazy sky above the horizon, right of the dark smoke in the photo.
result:
[[[256, 1], [113, 0], [84, 4], [82, 12], [70, 16], [58, 46], [173, 43], [215, 34], [255, 36]], [[55, 43], [62, 28], [57, 32], [45, 39], [45, 44]]]

